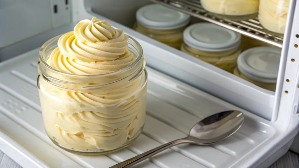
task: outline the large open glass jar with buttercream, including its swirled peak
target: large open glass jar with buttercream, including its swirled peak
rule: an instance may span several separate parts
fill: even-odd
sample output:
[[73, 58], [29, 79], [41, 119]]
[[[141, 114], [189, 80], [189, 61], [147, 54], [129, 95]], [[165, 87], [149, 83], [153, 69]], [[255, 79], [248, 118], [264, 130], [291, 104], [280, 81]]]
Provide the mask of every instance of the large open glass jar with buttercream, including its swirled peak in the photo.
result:
[[[102, 155], [128, 146], [141, 134], [147, 72], [136, 40], [105, 21], [93, 18], [83, 23], [78, 25], [104, 23], [103, 28], [112, 33], [91, 28], [94, 36], [78, 37], [74, 31], [47, 41], [39, 51], [37, 85], [49, 138], [69, 152]], [[107, 37], [109, 44], [83, 43], [87, 36], [89, 40]], [[77, 59], [64, 56], [74, 53]]]

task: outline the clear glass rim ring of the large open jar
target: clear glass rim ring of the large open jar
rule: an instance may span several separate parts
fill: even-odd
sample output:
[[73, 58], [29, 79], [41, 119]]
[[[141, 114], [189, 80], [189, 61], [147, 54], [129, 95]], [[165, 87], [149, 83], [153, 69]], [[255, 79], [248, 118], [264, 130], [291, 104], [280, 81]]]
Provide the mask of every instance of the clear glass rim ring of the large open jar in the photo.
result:
[[48, 46], [50, 44], [52, 44], [54, 41], [58, 40], [63, 34], [60, 34], [58, 36], [55, 36], [51, 39], [49, 39], [47, 42], [45, 42], [42, 47], [39, 49], [39, 62], [41, 62], [43, 64], [44, 67], [46, 67], [48, 70], [56, 73], [56, 74], [60, 74], [60, 75], [68, 75], [70, 77], [80, 77], [80, 78], [97, 78], [97, 77], [106, 77], [106, 76], [110, 76], [110, 75], [115, 75], [118, 74], [120, 72], [124, 72], [129, 70], [130, 68], [134, 67], [138, 62], [141, 61], [141, 59], [143, 58], [143, 49], [141, 47], [141, 45], [139, 44], [139, 42], [137, 42], [134, 38], [132, 38], [131, 36], [127, 35], [129, 38], [128, 40], [132, 40], [138, 47], [138, 56], [136, 57], [136, 59], [134, 60], [134, 62], [132, 62], [130, 65], [126, 66], [125, 68], [122, 68], [120, 70], [114, 71], [114, 72], [110, 72], [107, 74], [98, 74], [98, 75], [77, 75], [77, 74], [69, 74], [69, 73], [65, 73], [62, 71], [58, 71], [54, 68], [52, 68], [50, 65], [48, 65], [48, 63], [46, 62], [46, 60], [42, 57], [43, 55], [46, 54], [46, 49], [48, 48]]

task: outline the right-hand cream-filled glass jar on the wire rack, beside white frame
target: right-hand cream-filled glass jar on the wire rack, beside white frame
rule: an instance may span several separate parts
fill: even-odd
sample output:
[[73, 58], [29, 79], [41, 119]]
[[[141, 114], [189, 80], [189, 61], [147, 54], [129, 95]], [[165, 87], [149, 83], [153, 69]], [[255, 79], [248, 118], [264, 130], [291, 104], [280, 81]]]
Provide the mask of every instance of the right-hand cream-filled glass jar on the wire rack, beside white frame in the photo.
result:
[[289, 9], [289, 0], [260, 0], [260, 24], [275, 33], [283, 34], [286, 28], [286, 19]]

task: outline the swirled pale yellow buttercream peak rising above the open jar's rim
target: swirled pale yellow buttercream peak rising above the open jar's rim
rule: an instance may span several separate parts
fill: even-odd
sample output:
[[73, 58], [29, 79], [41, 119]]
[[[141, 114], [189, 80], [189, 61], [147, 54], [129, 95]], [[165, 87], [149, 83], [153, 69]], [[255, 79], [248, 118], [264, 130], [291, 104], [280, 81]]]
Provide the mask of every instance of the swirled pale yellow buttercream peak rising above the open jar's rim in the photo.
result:
[[75, 26], [74, 31], [60, 37], [58, 48], [52, 52], [48, 64], [60, 71], [80, 75], [117, 71], [135, 59], [126, 49], [127, 41], [128, 36], [123, 30], [112, 28], [109, 22], [95, 17], [85, 19]]

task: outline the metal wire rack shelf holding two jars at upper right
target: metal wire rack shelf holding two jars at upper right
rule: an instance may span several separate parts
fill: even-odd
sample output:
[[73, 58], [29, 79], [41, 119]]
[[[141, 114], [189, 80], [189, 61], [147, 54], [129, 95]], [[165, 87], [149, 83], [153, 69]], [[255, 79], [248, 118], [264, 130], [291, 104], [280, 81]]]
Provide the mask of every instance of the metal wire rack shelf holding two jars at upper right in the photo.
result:
[[152, 2], [179, 10], [199, 19], [223, 26], [239, 32], [245, 36], [263, 41], [265, 43], [282, 48], [283, 35], [264, 29], [257, 17], [254, 19], [232, 20], [202, 8], [200, 0], [150, 0]]

